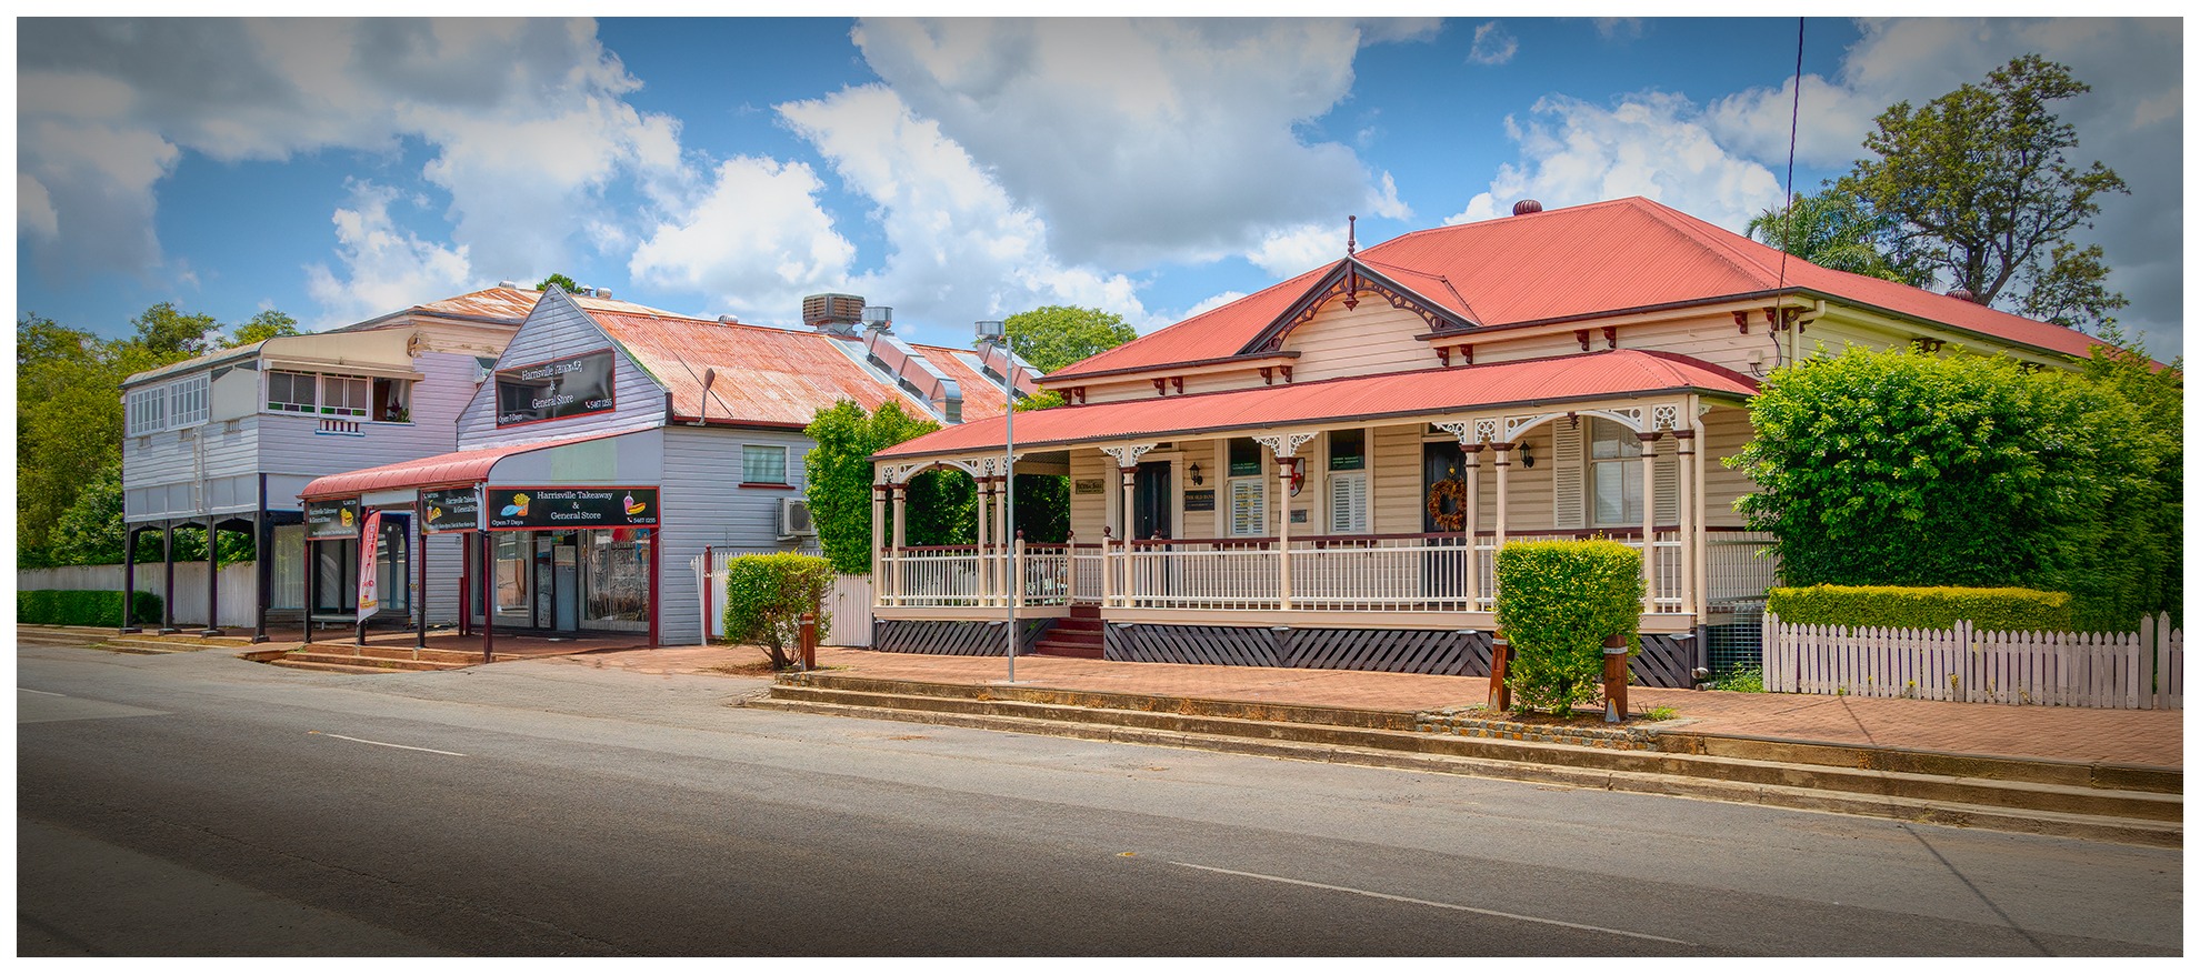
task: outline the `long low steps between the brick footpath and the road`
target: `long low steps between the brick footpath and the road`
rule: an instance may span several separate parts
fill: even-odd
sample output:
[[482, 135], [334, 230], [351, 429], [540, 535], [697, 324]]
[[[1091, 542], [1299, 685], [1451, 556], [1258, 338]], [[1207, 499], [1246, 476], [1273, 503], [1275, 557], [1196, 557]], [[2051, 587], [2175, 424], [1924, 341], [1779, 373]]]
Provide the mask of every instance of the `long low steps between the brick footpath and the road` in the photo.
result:
[[[772, 686], [770, 701], [788, 708], [827, 706], [873, 710], [878, 715], [900, 712], [911, 715], [906, 719], [920, 721], [1038, 721], [1041, 726], [1065, 726], [1069, 730], [1060, 732], [1076, 737], [1107, 737], [1111, 728], [1137, 730], [1140, 734], [1201, 734], [1203, 739], [1241, 739], [1263, 745], [1289, 743], [1300, 750], [1355, 748], [1610, 774], [1661, 774], [1716, 781], [1723, 787], [1789, 787], [1881, 800], [1960, 805], [1965, 809], [1987, 807], [2154, 824], [2180, 822], [2185, 805], [2182, 774], [2174, 770], [2112, 767], [2103, 774], [2099, 767], [2053, 761], [1949, 754], [1929, 761], [1923, 752], [1896, 752], [1896, 759], [1879, 759], [1881, 763], [1896, 761], [1914, 767], [1885, 770], [1870, 767], [1868, 756], [1859, 756], [1859, 752], [1868, 752], [1866, 748], [1846, 748], [1844, 754], [1844, 748], [1835, 745], [1782, 750], [1758, 741], [1740, 748], [1753, 756], [1718, 754], [1718, 748], [1707, 743], [1716, 739], [1705, 734], [1674, 734], [1670, 743], [1676, 750], [1663, 750], [1668, 743], [1665, 734], [1654, 737], [1659, 750], [1613, 750], [1432, 734], [1417, 730], [1412, 715], [1351, 708], [1291, 708], [1087, 690], [878, 682], [834, 677], [829, 673], [783, 677], [783, 682]], [[1971, 816], [1971, 811], [1962, 813]]]

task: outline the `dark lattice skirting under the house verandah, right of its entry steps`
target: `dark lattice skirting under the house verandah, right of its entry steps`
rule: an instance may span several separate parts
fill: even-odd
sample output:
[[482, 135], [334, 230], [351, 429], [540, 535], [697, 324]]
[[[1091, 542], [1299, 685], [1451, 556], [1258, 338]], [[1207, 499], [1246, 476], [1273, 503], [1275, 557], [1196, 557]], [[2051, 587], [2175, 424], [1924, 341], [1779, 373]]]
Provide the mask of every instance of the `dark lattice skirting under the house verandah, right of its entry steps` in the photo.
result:
[[[1643, 635], [1628, 660], [1637, 686], [1690, 686], [1694, 640]], [[1454, 629], [1267, 629], [1107, 627], [1107, 657], [1122, 662], [1188, 662], [1208, 666], [1296, 666], [1309, 671], [1489, 675], [1489, 633]]]

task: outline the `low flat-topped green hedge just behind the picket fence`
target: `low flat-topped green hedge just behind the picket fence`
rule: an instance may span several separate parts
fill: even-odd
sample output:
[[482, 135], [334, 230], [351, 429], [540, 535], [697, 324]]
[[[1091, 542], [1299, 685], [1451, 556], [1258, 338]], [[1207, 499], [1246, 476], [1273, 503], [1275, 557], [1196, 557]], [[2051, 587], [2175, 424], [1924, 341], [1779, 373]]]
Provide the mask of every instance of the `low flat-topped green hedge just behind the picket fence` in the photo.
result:
[[1771, 589], [1764, 609], [1806, 627], [2068, 631], [2070, 594], [1903, 585], [1811, 585]]

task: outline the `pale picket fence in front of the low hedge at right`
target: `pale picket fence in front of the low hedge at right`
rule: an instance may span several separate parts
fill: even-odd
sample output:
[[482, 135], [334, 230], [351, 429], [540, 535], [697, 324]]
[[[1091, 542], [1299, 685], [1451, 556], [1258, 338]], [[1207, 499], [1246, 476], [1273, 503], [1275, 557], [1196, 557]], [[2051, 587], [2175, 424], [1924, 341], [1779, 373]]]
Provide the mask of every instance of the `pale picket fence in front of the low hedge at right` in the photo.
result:
[[2185, 631], [2000, 633], [1800, 627], [1764, 613], [1764, 688], [1969, 704], [2185, 708]]

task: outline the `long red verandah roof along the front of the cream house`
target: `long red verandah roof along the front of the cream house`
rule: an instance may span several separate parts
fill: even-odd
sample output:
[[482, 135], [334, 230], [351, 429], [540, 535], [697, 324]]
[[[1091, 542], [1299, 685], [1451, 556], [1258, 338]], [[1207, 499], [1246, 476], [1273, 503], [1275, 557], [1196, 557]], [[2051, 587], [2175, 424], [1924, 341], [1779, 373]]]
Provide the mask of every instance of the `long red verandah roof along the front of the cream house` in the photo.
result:
[[[1016, 446], [1173, 438], [1331, 420], [1432, 416], [1498, 405], [1569, 402], [1696, 389], [1756, 396], [1758, 385], [1670, 352], [1617, 350], [1459, 369], [1393, 372], [1302, 385], [1100, 402], [1016, 413]], [[880, 460], [999, 449], [999, 418], [946, 427], [884, 449]]]

